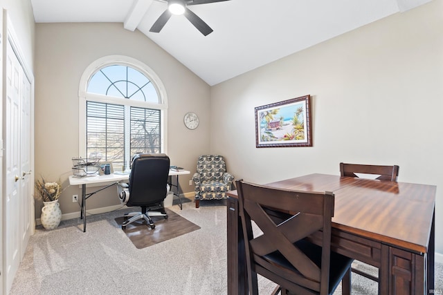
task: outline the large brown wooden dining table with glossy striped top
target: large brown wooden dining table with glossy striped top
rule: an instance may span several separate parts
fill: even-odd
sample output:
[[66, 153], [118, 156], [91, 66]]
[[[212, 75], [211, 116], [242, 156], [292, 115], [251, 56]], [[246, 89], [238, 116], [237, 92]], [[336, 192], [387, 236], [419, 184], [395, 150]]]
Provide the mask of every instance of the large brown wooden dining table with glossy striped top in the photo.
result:
[[[434, 293], [435, 186], [318, 173], [266, 185], [334, 192], [332, 250], [377, 267], [381, 295]], [[248, 294], [237, 191], [228, 196], [228, 294]]]

